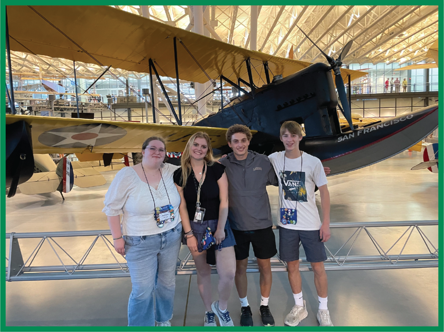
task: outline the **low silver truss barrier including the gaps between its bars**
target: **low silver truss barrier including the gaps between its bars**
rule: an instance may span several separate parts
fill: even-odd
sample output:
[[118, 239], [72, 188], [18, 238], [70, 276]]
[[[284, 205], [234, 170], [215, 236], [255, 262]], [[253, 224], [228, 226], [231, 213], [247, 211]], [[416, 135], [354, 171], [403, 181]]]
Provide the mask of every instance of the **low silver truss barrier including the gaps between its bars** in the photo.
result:
[[[421, 229], [437, 225], [438, 220], [332, 223], [325, 270], [437, 267], [438, 248]], [[115, 253], [110, 235], [109, 230], [7, 233], [6, 280], [129, 277], [127, 263]], [[423, 245], [409, 246], [417, 240]], [[271, 259], [271, 267], [273, 272], [286, 271], [279, 256]], [[305, 257], [300, 270], [311, 270]], [[247, 272], [259, 272], [254, 258], [248, 260]], [[217, 273], [215, 268], [212, 273]], [[177, 274], [196, 274], [190, 254], [178, 258]]]

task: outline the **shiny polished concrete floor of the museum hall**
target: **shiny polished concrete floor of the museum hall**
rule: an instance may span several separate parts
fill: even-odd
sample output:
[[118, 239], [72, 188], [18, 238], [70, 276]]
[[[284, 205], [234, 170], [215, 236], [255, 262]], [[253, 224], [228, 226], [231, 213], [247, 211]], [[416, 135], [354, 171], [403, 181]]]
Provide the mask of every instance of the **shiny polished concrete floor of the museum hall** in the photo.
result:
[[[331, 222], [430, 220], [438, 218], [438, 175], [428, 170], [410, 171], [422, 161], [420, 152], [402, 152], [381, 163], [329, 177]], [[107, 229], [101, 212], [103, 198], [115, 172], [103, 173], [108, 184], [82, 189], [75, 187], [65, 195], [17, 194], [6, 200], [6, 231], [37, 232], [58, 230]], [[277, 218], [277, 189], [268, 187], [274, 220]], [[319, 205], [319, 197], [317, 196]], [[406, 229], [371, 229], [381, 246], [387, 250]], [[437, 227], [422, 227], [437, 246]], [[353, 230], [332, 230], [327, 242], [337, 250]], [[278, 238], [278, 236], [277, 236]], [[64, 245], [83, 254], [90, 240], [67, 240]], [[392, 251], [399, 253], [404, 241]], [[8, 245], [8, 241], [7, 241]], [[21, 240], [25, 259], [35, 240]], [[33, 265], [58, 265], [49, 247], [39, 253]], [[48, 250], [49, 249], [49, 250]], [[83, 252], [81, 251], [83, 250]], [[336, 251], [335, 250], [335, 251]], [[344, 249], [343, 249], [344, 250]], [[348, 251], [348, 249], [347, 249]], [[342, 252], [342, 251], [341, 251]], [[404, 249], [408, 253], [426, 253], [417, 232]], [[180, 256], [186, 255], [182, 246]], [[345, 253], [346, 254], [346, 251]], [[377, 254], [365, 234], [361, 234], [350, 254]], [[40, 256], [41, 255], [41, 256]], [[76, 257], [74, 257], [76, 258]], [[87, 263], [113, 262], [107, 248], [95, 247]], [[300, 326], [317, 326], [317, 294], [312, 272], [302, 272], [303, 295], [309, 316]], [[438, 269], [329, 271], [329, 311], [336, 326], [434, 326], [438, 324]], [[218, 276], [213, 275], [213, 297], [217, 299]], [[254, 324], [260, 325], [259, 274], [248, 274], [248, 299]], [[68, 281], [20, 281], [6, 283], [7, 325], [127, 325], [127, 299], [131, 292], [130, 278], [87, 279]], [[189, 295], [187, 295], [189, 294]], [[270, 309], [277, 326], [294, 305], [287, 274], [273, 274]], [[235, 325], [239, 324], [240, 303], [235, 287], [228, 309]], [[174, 326], [202, 326], [204, 306], [199, 297], [196, 276], [177, 276], [174, 299]]]

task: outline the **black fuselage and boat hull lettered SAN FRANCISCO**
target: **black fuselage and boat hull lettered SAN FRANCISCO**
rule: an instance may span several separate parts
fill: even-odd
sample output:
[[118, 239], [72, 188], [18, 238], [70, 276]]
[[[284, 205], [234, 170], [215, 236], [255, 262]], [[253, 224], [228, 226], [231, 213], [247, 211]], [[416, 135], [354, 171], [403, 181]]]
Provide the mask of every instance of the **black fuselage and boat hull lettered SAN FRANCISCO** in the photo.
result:
[[[284, 121], [304, 124], [301, 150], [331, 168], [331, 175], [384, 160], [421, 141], [438, 125], [438, 106], [404, 113], [367, 128], [341, 132], [337, 94], [329, 67], [321, 62], [238, 98], [218, 113], [193, 125], [228, 128], [245, 124], [258, 133], [250, 149], [263, 154], [282, 151], [279, 129]], [[227, 153], [228, 145], [216, 153]]]

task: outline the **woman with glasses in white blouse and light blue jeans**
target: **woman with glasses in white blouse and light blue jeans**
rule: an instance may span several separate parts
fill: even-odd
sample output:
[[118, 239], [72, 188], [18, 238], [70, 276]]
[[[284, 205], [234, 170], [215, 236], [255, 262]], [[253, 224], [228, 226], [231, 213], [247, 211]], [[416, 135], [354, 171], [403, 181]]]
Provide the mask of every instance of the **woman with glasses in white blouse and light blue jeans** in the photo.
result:
[[177, 166], [163, 164], [165, 153], [163, 138], [148, 138], [142, 162], [122, 168], [105, 195], [114, 248], [131, 276], [128, 326], [171, 326], [182, 224], [173, 182]]

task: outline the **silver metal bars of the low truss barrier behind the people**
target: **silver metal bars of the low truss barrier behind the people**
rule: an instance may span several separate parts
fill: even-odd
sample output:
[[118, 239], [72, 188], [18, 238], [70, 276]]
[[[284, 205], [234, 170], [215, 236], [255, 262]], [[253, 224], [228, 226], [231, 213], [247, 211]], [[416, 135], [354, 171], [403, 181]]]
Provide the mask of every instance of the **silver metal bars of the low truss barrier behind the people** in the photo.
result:
[[[422, 226], [436, 226], [438, 220], [416, 220], [416, 221], [388, 221], [388, 222], [356, 222], [356, 223], [331, 223], [331, 229], [337, 228], [355, 228], [353, 234], [345, 241], [342, 246], [336, 250], [330, 250], [327, 246], [327, 261], [325, 261], [325, 270], [384, 270], [384, 269], [412, 269], [425, 267], [438, 267], [438, 248], [424, 234], [420, 227]], [[384, 250], [377, 242], [376, 238], [370, 232], [375, 227], [407, 227], [404, 233], [396, 239], [395, 242]], [[273, 227], [276, 228], [275, 226]], [[428, 252], [422, 254], [402, 254], [406, 247], [408, 240], [414, 231], [420, 234]], [[334, 233], [334, 231], [333, 231]], [[353, 246], [357, 242], [360, 234], [366, 234], [373, 243], [379, 254], [367, 256], [353, 256], [350, 255]], [[384, 232], [385, 233], [385, 232]], [[82, 231], [63, 231], [63, 232], [42, 232], [42, 233], [7, 233], [6, 238], [9, 238], [9, 254], [8, 266], [6, 268], [7, 281], [32, 281], [32, 280], [61, 280], [61, 279], [88, 279], [88, 278], [114, 278], [114, 277], [129, 277], [127, 264], [119, 262], [115, 256], [115, 250], [110, 237], [110, 230], [82, 230]], [[82, 258], [77, 262], [69, 254], [67, 250], [56, 242], [55, 238], [70, 238], [70, 237], [93, 237], [93, 240], [87, 250], [82, 255]], [[24, 261], [19, 240], [18, 239], [40, 238], [37, 246], [32, 250], [29, 257]], [[362, 238], [362, 237], [361, 237]], [[405, 240], [404, 240], [405, 238]], [[401, 241], [402, 240], [402, 241]], [[22, 242], [21, 240], [20, 242]], [[59, 239], [57, 239], [59, 241]], [[400, 242], [401, 241], [401, 242]], [[55, 257], [60, 262], [57, 266], [32, 266], [32, 262], [39, 254], [43, 244], [47, 242], [49, 247], [55, 254]], [[60, 242], [60, 241], [59, 241]], [[109, 258], [112, 258], [114, 263], [109, 264], [85, 264], [85, 260], [90, 255], [91, 250], [97, 244], [103, 242], [110, 253]], [[399, 253], [393, 253], [392, 248], [398, 243], [404, 245]], [[89, 242], [88, 242], [89, 243]], [[341, 252], [341, 254], [340, 254]], [[118, 255], [119, 256], [119, 255]], [[65, 260], [63, 262], [62, 260]], [[103, 257], [101, 252], [100, 257]], [[121, 260], [123, 258], [120, 258]], [[69, 262], [67, 262], [67, 260]], [[277, 257], [271, 258], [271, 269], [273, 272], [286, 271], [285, 262], [282, 262]], [[310, 263], [305, 257], [300, 259], [300, 270], [311, 270]], [[259, 272], [256, 259], [248, 260], [247, 272]], [[196, 267], [194, 261], [190, 260], [190, 253], [182, 260], [178, 259], [177, 274], [196, 274]], [[216, 269], [212, 269], [212, 273], [217, 273]]]

